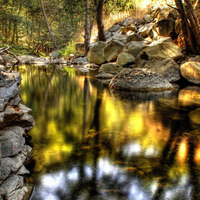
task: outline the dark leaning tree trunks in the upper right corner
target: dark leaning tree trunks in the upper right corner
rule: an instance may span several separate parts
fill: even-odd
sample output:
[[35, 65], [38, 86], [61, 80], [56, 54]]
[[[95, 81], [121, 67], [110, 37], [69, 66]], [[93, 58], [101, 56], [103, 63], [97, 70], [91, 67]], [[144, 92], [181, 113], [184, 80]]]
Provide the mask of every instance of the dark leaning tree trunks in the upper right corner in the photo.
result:
[[200, 53], [200, 31], [199, 22], [194, 13], [190, 0], [184, 0], [185, 9], [182, 0], [175, 0], [179, 16], [181, 18], [181, 29], [183, 33], [185, 50], [187, 53]]

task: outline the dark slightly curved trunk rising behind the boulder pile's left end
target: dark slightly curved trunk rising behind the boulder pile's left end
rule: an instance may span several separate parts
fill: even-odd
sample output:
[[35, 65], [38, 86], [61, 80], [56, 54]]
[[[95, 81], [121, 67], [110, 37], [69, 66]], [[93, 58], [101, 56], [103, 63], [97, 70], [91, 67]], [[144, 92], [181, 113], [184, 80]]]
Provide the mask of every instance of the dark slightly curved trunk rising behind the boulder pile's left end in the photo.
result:
[[104, 0], [99, 0], [97, 5], [97, 26], [98, 26], [98, 38], [99, 41], [106, 41], [103, 23], [103, 3]]

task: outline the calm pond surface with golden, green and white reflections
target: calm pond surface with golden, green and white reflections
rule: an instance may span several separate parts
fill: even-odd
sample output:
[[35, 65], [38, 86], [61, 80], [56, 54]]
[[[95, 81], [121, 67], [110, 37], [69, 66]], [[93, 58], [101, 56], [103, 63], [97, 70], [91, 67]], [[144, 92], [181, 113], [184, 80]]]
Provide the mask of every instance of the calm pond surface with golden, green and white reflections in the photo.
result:
[[200, 199], [199, 87], [116, 93], [71, 67], [20, 71], [32, 200]]

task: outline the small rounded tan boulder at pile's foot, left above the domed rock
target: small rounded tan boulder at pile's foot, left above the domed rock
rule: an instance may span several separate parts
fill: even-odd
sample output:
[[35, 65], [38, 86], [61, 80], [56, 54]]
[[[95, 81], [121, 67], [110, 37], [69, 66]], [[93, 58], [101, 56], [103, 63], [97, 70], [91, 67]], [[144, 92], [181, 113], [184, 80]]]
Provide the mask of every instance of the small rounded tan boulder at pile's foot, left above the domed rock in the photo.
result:
[[116, 64], [119, 67], [126, 67], [128, 65], [134, 64], [134, 62], [135, 62], [134, 56], [132, 56], [129, 53], [122, 52], [118, 55]]

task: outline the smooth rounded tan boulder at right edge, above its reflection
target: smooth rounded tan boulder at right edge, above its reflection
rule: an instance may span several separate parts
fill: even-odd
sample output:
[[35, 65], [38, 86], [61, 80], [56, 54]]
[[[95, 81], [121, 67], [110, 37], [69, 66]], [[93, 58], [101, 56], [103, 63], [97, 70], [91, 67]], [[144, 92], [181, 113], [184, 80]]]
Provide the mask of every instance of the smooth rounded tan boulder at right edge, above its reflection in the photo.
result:
[[181, 75], [191, 83], [200, 84], [200, 63], [186, 62], [180, 67]]

